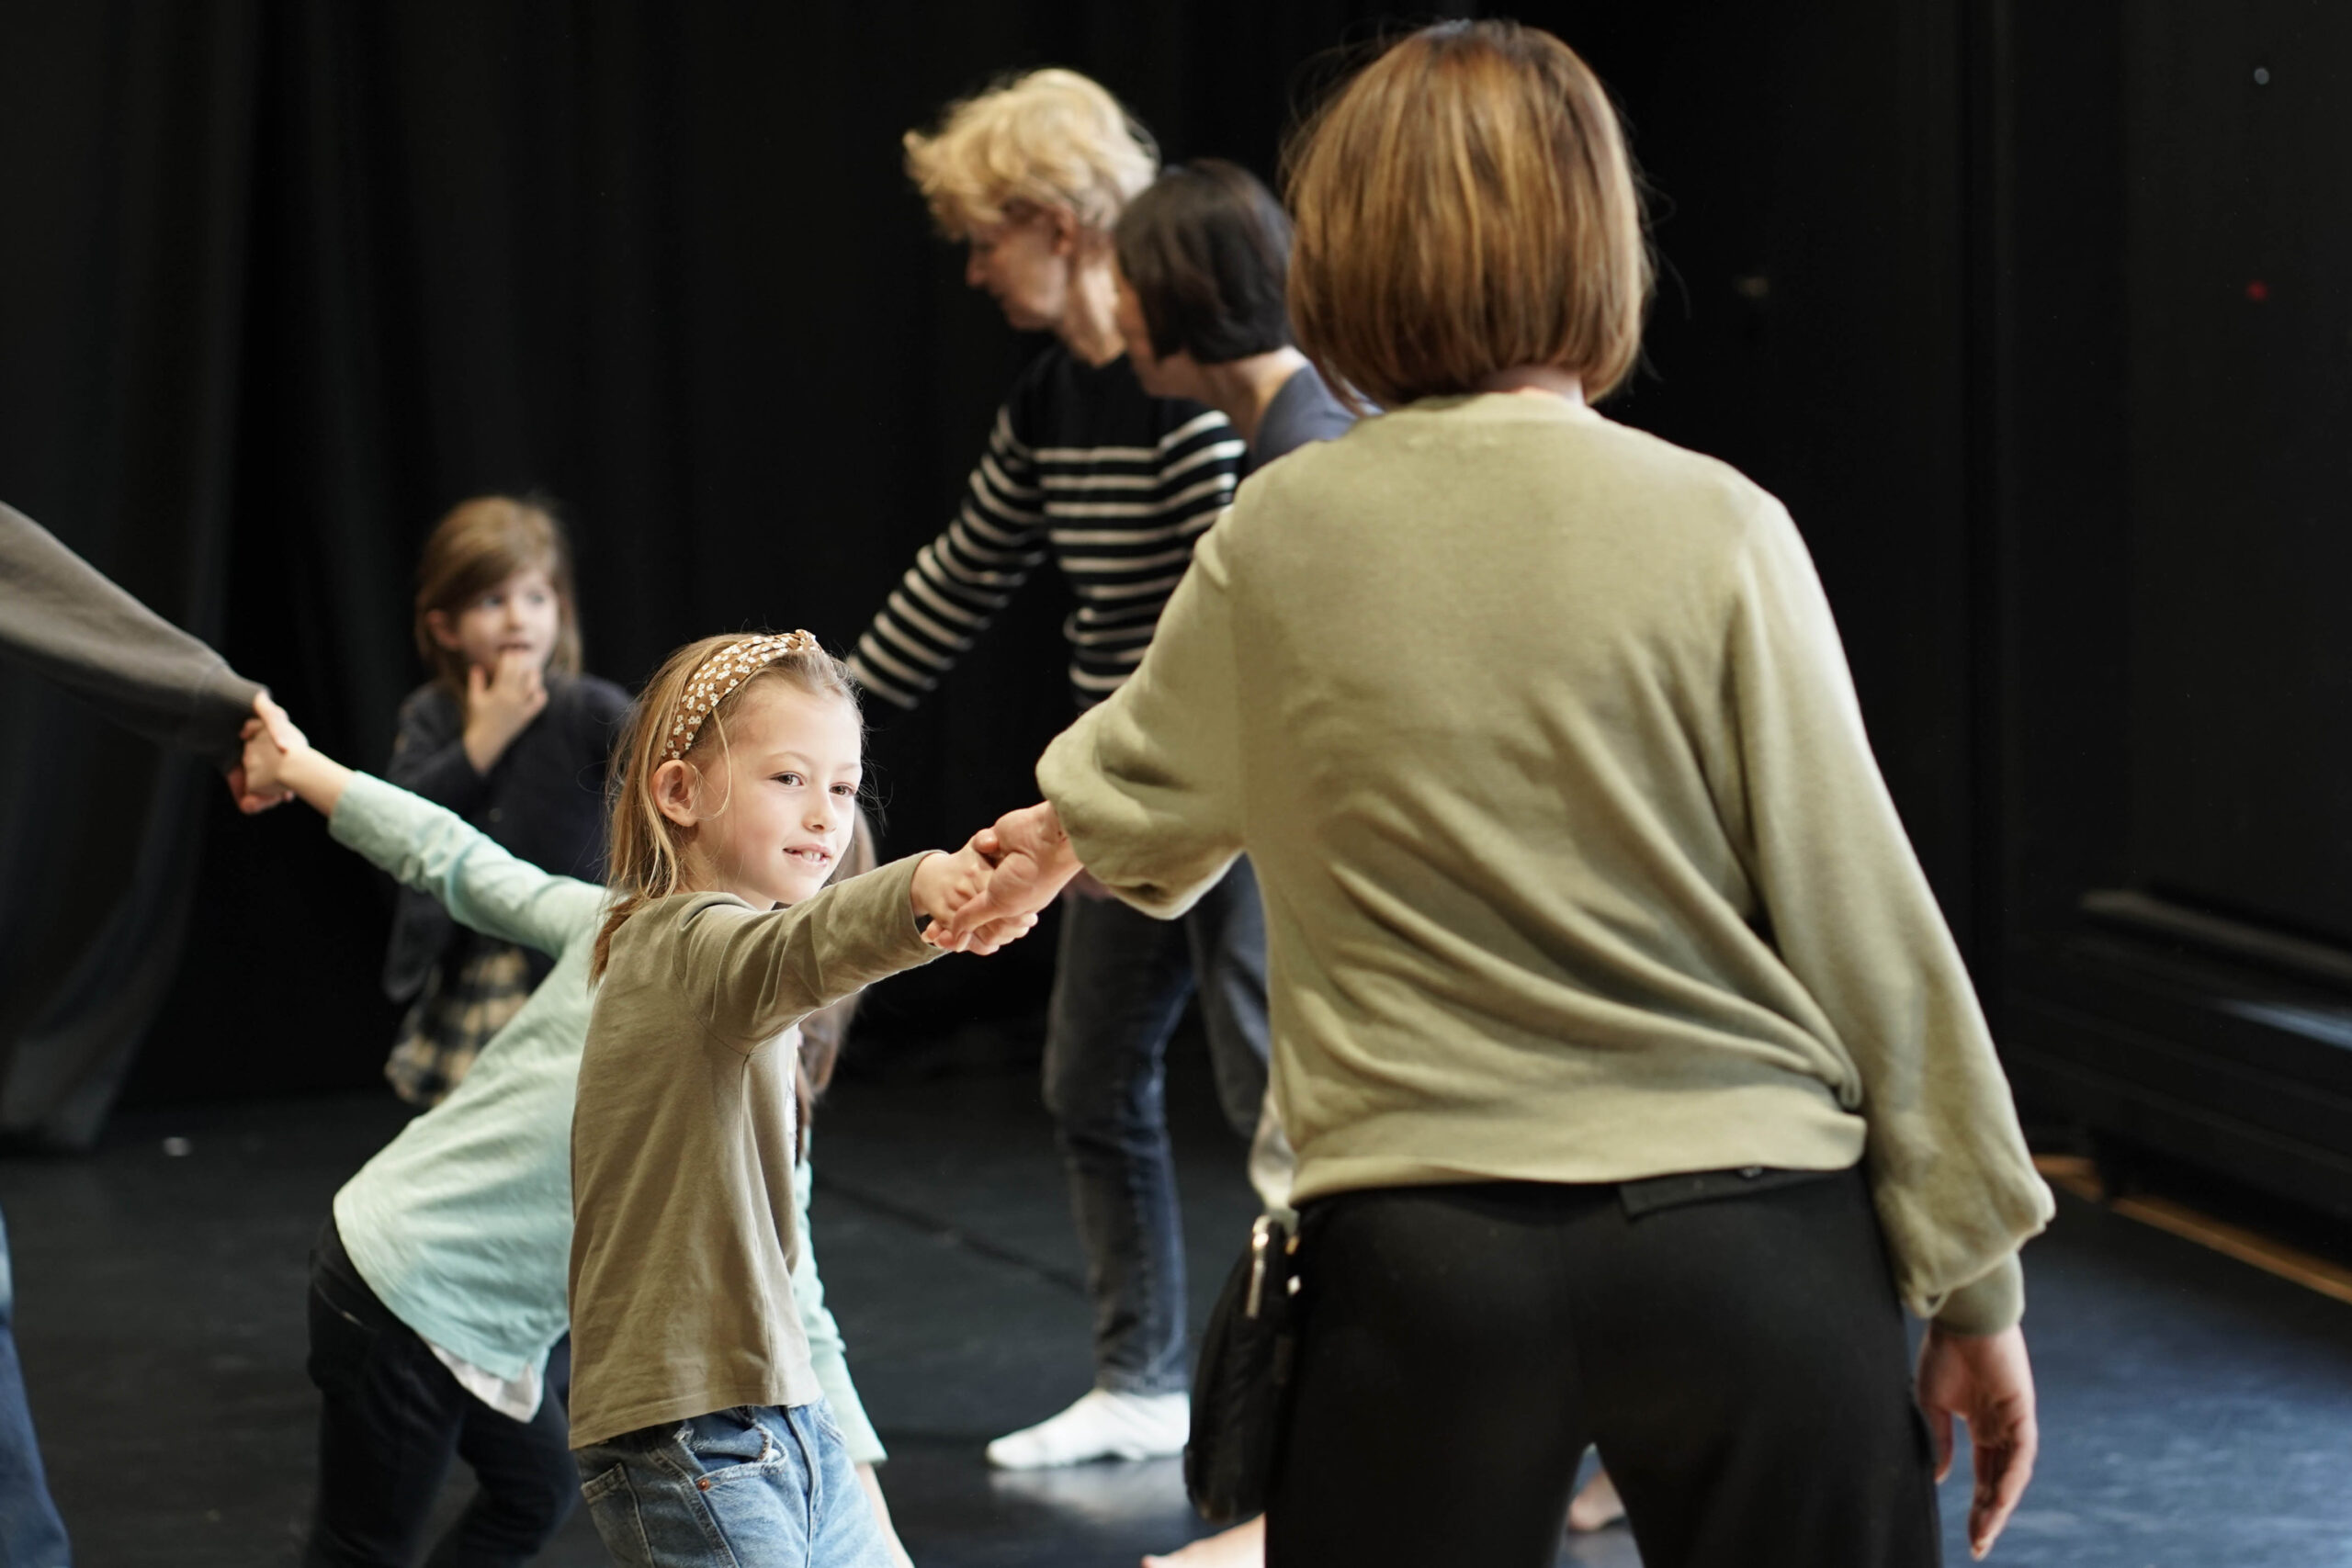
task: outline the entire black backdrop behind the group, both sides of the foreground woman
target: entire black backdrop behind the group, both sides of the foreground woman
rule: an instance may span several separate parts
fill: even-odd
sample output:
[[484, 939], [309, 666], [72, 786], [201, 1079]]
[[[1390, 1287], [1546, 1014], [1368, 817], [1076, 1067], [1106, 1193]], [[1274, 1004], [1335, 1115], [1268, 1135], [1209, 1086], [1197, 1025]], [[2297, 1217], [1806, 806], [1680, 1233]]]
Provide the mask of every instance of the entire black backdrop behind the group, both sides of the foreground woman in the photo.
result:
[[[1171, 155], [1268, 172], [1324, 52], [1385, 9], [0, 5], [0, 494], [358, 764], [419, 675], [416, 541], [482, 489], [567, 503], [604, 675], [720, 628], [847, 644], [1035, 348], [962, 289], [898, 134], [1054, 61]], [[1790, 501], [1898, 804], [1990, 952], [2009, 665], [2002, 557], [1971, 515], [1999, 501], [1980, 219], [2009, 7], [1519, 14], [1613, 85], [1656, 188], [1651, 362], [1613, 414]], [[1061, 611], [1040, 578], [924, 710], [877, 715], [891, 846], [1028, 797], [1068, 717]], [[193, 922], [134, 1098], [374, 1079], [386, 898], [315, 820], [242, 820], [21, 684], [0, 684], [0, 1027], [56, 1006], [61, 961], [120, 914], [94, 889], [141, 870], [155, 929], [118, 931], [125, 973], [174, 952], [179, 907]], [[875, 1037], [1033, 1013], [1049, 957], [1033, 940], [894, 983]], [[68, 1140], [111, 1081], [85, 1074], [61, 1117], [49, 1079], [19, 1077], [0, 1119]]]

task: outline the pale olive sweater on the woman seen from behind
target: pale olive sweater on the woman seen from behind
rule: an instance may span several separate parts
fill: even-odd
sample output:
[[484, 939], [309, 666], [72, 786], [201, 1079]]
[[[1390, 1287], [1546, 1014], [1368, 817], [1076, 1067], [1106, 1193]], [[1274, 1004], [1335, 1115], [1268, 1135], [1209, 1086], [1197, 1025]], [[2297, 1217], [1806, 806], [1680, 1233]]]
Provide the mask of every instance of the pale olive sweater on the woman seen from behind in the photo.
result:
[[1557, 397], [1247, 480], [1037, 769], [1176, 914], [1247, 851], [1298, 1199], [1865, 1161], [1912, 1309], [2023, 1312], [2049, 1220], [1788, 512]]

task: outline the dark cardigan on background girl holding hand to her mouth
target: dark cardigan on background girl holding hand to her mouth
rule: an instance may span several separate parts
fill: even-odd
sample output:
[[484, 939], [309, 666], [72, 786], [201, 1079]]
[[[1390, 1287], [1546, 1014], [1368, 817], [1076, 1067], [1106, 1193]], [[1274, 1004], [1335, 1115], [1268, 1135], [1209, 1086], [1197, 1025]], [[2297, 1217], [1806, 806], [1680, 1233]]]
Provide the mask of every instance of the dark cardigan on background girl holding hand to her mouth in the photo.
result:
[[[489, 773], [466, 757], [466, 705], [437, 682], [400, 703], [400, 736], [383, 776], [447, 806], [501, 849], [539, 870], [583, 882], [604, 879], [604, 759], [612, 755], [628, 693], [595, 675], [550, 675], [548, 705], [499, 755]], [[456, 926], [428, 893], [400, 891], [393, 943], [383, 954], [383, 990], [407, 1001], [449, 952]], [[532, 961], [532, 985], [548, 959]]]

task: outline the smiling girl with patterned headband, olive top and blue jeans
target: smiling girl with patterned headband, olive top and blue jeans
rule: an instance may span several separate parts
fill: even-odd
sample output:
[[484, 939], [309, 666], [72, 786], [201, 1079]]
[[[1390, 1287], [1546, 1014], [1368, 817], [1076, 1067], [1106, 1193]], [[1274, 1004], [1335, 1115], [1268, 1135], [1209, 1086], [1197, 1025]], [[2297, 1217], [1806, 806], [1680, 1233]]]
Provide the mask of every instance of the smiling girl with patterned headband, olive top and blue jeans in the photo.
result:
[[967, 846], [826, 886], [861, 752], [807, 632], [680, 649], [616, 752], [572, 1117], [572, 1450], [628, 1568], [891, 1563], [795, 1309], [797, 1025], [938, 957], [924, 922], [988, 867]]

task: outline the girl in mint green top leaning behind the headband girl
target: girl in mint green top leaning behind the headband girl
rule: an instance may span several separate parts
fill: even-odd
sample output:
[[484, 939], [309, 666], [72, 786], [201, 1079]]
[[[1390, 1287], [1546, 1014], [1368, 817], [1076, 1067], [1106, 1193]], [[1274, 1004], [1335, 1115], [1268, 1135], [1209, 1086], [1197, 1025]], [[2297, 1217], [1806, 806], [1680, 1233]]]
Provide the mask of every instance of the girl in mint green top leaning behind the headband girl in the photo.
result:
[[[456, 813], [310, 750], [268, 696], [259, 705], [268, 729], [247, 724], [249, 788], [292, 790], [327, 818], [339, 844], [461, 929], [553, 961], [466, 1081], [334, 1194], [310, 1255], [308, 1368], [320, 1389], [320, 1441], [303, 1563], [414, 1563], [454, 1458], [480, 1488], [433, 1561], [522, 1563], [579, 1505], [562, 1403], [572, 1088], [607, 893], [543, 872]], [[835, 877], [870, 867], [873, 839], [858, 825]], [[851, 997], [802, 1025], [802, 1105], [823, 1088], [854, 1006]], [[802, 1237], [809, 1190], [802, 1157], [793, 1182]], [[875, 1523], [906, 1568], [875, 1476], [887, 1453], [849, 1380], [807, 1241], [793, 1295]]]

